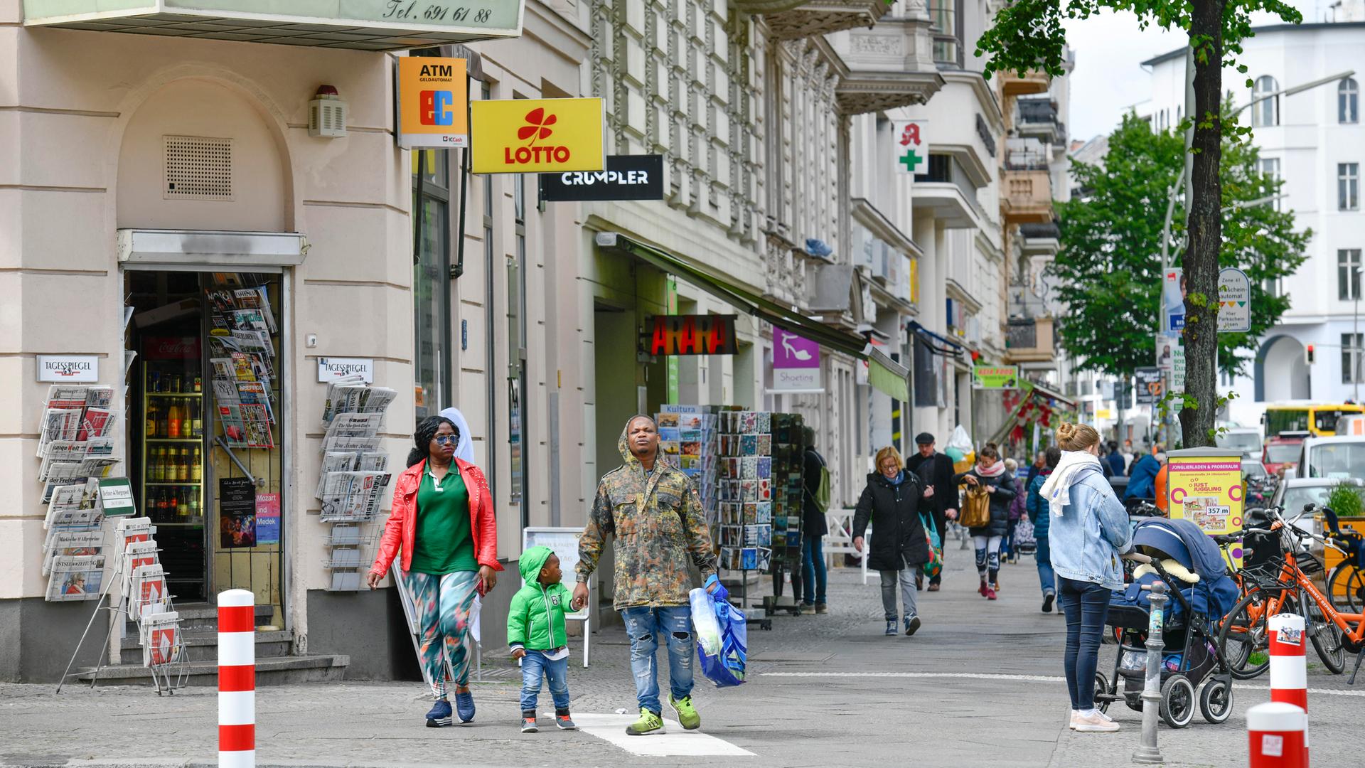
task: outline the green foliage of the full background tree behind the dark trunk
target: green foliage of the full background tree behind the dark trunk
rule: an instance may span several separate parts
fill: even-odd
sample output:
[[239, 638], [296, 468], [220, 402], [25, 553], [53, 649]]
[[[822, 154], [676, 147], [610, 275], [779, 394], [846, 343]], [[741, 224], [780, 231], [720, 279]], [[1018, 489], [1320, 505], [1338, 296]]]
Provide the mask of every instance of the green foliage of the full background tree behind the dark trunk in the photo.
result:
[[[1230, 118], [1224, 118], [1230, 122]], [[1130, 376], [1155, 362], [1155, 332], [1160, 292], [1162, 224], [1171, 184], [1179, 182], [1183, 138], [1153, 133], [1129, 113], [1110, 137], [1102, 164], [1076, 163], [1080, 194], [1057, 204], [1062, 250], [1051, 269], [1059, 277], [1059, 298], [1067, 316], [1058, 323], [1066, 350], [1078, 366], [1111, 376]], [[1257, 171], [1256, 148], [1223, 139], [1222, 206], [1279, 194], [1282, 180]], [[1183, 236], [1185, 216], [1175, 206], [1173, 241]], [[1304, 262], [1310, 232], [1294, 231], [1294, 215], [1264, 204], [1223, 215], [1219, 266], [1238, 266], [1252, 280], [1252, 332], [1219, 333], [1219, 368], [1242, 372], [1259, 338], [1290, 306], [1289, 297], [1261, 290]], [[1178, 249], [1171, 247], [1175, 265]]]

